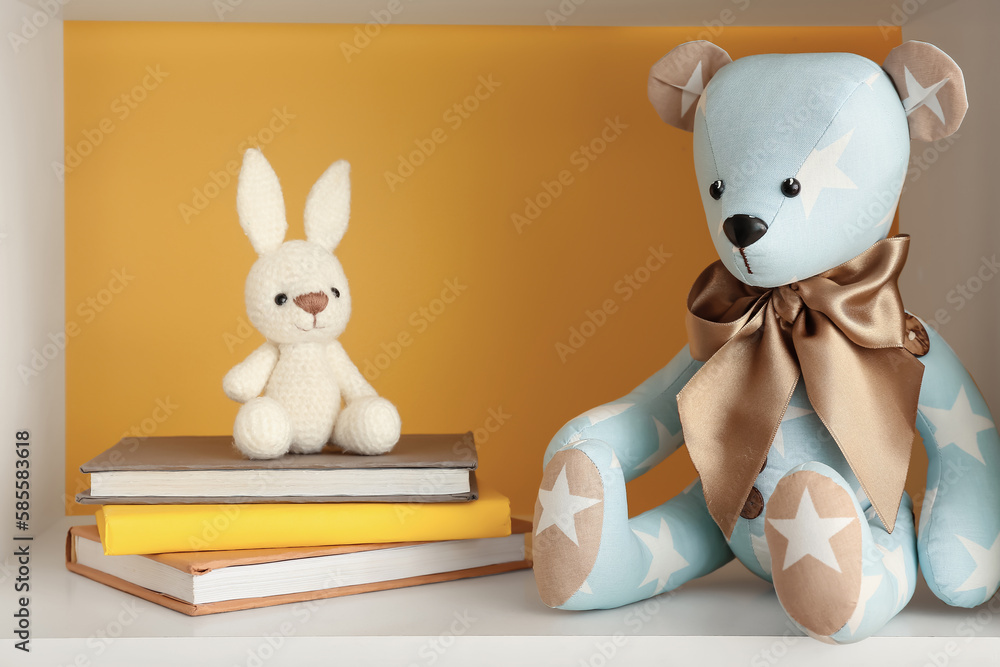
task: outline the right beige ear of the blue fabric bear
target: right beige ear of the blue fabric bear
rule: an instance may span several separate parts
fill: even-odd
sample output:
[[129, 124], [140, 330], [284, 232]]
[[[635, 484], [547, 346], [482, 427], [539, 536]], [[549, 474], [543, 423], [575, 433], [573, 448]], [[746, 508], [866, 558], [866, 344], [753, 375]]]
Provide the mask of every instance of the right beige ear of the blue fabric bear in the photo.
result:
[[903, 100], [910, 138], [937, 141], [955, 132], [969, 99], [965, 78], [947, 53], [927, 42], [905, 42], [882, 64]]

